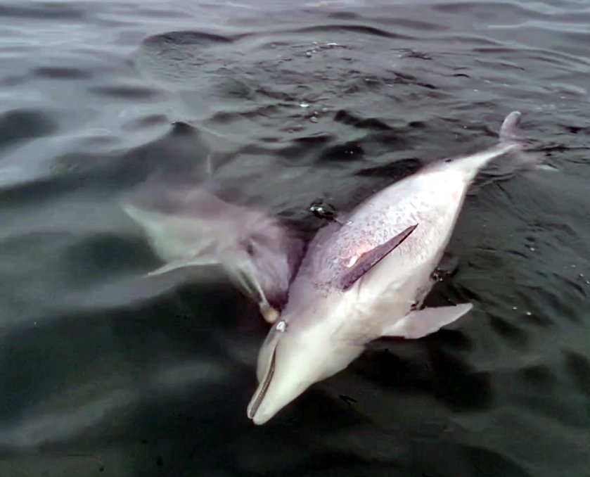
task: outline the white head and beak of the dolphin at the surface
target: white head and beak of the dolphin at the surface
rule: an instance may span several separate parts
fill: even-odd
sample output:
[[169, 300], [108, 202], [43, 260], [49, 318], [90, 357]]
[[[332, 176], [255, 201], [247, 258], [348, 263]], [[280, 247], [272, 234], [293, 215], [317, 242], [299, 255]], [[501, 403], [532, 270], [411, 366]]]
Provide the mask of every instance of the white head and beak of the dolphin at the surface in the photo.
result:
[[333, 339], [326, 324], [276, 322], [259, 351], [258, 388], [248, 417], [264, 424], [312, 384], [345, 369], [363, 350], [361, 345]]

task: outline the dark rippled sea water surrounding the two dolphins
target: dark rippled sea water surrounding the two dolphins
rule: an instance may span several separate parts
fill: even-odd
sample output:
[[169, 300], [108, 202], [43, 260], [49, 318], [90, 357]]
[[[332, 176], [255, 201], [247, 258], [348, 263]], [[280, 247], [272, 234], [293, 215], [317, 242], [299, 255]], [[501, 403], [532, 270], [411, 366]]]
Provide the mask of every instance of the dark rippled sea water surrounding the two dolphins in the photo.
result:
[[[590, 3], [0, 4], [0, 476], [590, 476]], [[427, 302], [264, 426], [266, 326], [159, 267], [118, 206], [158, 177], [306, 238], [420, 165], [522, 129], [556, 171], [482, 174]], [[450, 265], [449, 265], [450, 264]]]

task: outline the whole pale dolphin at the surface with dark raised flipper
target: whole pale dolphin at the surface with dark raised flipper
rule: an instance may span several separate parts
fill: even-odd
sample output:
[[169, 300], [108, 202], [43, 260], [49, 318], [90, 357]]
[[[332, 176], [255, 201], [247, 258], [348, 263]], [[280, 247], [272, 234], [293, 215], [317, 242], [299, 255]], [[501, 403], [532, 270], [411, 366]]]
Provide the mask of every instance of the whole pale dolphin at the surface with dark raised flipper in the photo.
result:
[[259, 385], [248, 406], [255, 424], [345, 369], [369, 341], [421, 338], [471, 309], [420, 308], [475, 174], [501, 155], [522, 153], [519, 121], [518, 112], [506, 117], [495, 147], [428, 165], [316, 234], [259, 351]]

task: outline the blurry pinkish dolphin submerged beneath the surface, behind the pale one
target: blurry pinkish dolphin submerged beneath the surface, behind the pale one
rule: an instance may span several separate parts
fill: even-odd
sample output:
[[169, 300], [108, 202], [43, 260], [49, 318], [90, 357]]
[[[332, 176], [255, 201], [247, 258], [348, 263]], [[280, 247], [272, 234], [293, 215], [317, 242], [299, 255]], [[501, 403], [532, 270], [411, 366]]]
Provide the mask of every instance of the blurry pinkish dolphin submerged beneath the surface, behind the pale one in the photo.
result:
[[263, 210], [222, 201], [203, 186], [152, 187], [143, 196], [148, 198], [143, 205], [127, 202], [122, 209], [167, 262], [148, 276], [220, 265], [257, 301], [264, 318], [274, 322], [300, 263], [300, 239]]

